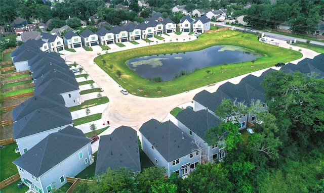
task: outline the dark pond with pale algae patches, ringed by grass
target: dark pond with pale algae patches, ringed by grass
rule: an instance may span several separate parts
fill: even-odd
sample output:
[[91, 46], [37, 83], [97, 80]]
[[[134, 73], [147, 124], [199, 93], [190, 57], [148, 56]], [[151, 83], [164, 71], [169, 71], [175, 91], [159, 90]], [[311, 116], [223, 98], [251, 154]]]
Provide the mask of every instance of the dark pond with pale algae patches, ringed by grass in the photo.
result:
[[167, 81], [189, 74], [196, 69], [231, 63], [252, 61], [263, 55], [233, 45], [214, 45], [207, 49], [133, 58], [126, 64], [142, 77], [154, 81]]

